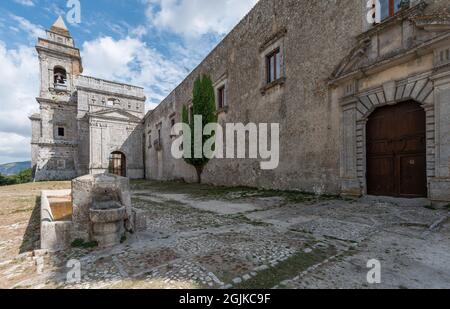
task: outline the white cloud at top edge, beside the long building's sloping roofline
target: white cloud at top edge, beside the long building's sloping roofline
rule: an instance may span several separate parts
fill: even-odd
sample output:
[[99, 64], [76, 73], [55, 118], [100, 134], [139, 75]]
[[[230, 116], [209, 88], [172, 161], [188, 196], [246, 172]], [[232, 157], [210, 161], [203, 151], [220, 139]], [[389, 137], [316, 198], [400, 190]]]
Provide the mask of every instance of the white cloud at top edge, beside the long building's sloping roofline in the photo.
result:
[[147, 0], [147, 16], [155, 27], [184, 37], [226, 34], [258, 0]]

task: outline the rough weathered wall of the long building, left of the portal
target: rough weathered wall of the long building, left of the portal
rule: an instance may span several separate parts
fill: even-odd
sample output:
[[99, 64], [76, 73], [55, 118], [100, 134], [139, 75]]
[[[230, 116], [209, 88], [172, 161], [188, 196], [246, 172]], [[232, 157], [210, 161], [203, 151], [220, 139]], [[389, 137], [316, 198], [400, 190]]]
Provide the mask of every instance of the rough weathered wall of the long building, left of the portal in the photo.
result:
[[[372, 28], [366, 21], [366, 3], [261, 0], [192, 74], [148, 113], [146, 177], [195, 180], [195, 170], [171, 156], [170, 121], [180, 121], [182, 106], [191, 104], [195, 78], [209, 74], [215, 84], [222, 80], [227, 84], [228, 111], [220, 113], [220, 122], [280, 123], [281, 153], [280, 165], [273, 171], [262, 171], [255, 160], [212, 160], [204, 182], [340, 193], [341, 169], [347, 160], [341, 156], [343, 114], [337, 102], [339, 94], [328, 83], [332, 72], [357, 46], [358, 36]], [[427, 3], [424, 15], [448, 7], [448, 1]], [[381, 58], [389, 57], [393, 50], [408, 46], [397, 30], [380, 37], [385, 40], [381, 42], [384, 47], [376, 50], [376, 59], [378, 53]], [[404, 31], [408, 30], [405, 25]], [[265, 55], [276, 46], [283, 52], [285, 81], [265, 91]], [[159, 130], [160, 150], [153, 147]], [[352, 147], [356, 149], [356, 145]]]

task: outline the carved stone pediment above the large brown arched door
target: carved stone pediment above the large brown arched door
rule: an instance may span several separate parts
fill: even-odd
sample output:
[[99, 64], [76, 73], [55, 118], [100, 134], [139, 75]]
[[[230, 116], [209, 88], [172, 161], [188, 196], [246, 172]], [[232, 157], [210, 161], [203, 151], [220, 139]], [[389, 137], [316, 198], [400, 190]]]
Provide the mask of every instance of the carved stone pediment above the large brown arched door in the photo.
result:
[[[450, 36], [450, 12], [425, 15], [425, 2], [401, 10], [381, 24], [356, 38], [355, 47], [339, 63], [330, 76], [331, 83], [347, 77], [358, 78], [372, 68], [398, 63], [402, 58], [417, 56], [439, 39]], [[407, 60], [405, 60], [407, 61]], [[370, 74], [370, 72], [369, 72]]]

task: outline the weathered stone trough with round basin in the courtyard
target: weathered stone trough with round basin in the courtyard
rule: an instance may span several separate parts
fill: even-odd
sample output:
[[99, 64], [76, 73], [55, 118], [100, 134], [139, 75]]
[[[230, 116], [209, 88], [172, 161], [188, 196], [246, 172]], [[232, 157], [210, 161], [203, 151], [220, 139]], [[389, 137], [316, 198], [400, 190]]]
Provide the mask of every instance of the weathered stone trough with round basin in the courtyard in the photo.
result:
[[145, 229], [145, 216], [131, 205], [127, 178], [87, 175], [74, 179], [72, 190], [42, 192], [42, 249], [63, 250], [74, 240], [111, 247], [126, 233]]

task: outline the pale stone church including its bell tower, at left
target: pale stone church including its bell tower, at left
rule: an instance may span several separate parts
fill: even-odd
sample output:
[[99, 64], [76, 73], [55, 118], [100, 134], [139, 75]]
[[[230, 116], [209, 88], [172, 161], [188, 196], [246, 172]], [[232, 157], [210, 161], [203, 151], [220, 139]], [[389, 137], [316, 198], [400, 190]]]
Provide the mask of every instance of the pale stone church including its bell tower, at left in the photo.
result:
[[35, 179], [105, 171], [143, 178], [143, 88], [81, 75], [80, 51], [61, 17], [36, 49], [40, 113], [30, 117]]

